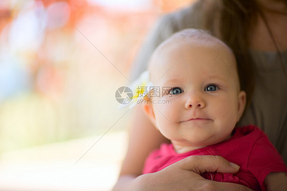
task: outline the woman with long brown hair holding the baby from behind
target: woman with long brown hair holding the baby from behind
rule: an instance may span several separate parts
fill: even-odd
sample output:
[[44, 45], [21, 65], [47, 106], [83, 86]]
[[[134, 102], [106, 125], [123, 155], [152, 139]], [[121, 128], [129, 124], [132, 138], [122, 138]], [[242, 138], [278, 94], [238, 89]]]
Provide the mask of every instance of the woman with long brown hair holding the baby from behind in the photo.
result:
[[[201, 0], [179, 12], [164, 16], [151, 32], [135, 62], [133, 77], [147, 67], [160, 42], [185, 28], [210, 31], [229, 45], [238, 63], [248, 107], [240, 126], [254, 124], [268, 135], [287, 162], [287, 6], [282, 0]], [[143, 161], [167, 141], [135, 108], [134, 126], [121, 174], [113, 190], [250, 190], [208, 181], [199, 174], [236, 173], [221, 157], [183, 159], [157, 173], [141, 175]], [[141, 175], [141, 176], [140, 176]]]

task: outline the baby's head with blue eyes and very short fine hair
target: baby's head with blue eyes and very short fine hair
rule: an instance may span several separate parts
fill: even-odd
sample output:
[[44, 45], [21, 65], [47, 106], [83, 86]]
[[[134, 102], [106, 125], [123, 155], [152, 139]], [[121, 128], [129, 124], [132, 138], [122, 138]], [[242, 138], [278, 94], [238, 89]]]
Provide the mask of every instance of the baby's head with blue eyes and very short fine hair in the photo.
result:
[[157, 47], [148, 68], [161, 91], [160, 97], [149, 98], [153, 104], [145, 110], [177, 152], [230, 137], [244, 111], [246, 93], [240, 90], [236, 61], [225, 43], [186, 29]]

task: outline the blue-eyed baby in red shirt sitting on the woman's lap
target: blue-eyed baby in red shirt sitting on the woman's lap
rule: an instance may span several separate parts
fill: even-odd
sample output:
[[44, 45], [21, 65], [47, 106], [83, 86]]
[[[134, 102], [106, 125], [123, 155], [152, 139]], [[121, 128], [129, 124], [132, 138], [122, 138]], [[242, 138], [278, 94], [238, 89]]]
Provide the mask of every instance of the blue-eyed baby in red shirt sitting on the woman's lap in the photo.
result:
[[143, 107], [171, 144], [149, 155], [143, 174], [190, 155], [220, 155], [240, 165], [240, 171], [204, 173], [204, 178], [254, 190], [287, 190], [286, 166], [267, 136], [253, 125], [234, 128], [246, 93], [226, 44], [204, 31], [183, 30], [157, 47], [149, 73], [154, 87], [170, 87], [160, 88], [158, 97], [148, 95]]

